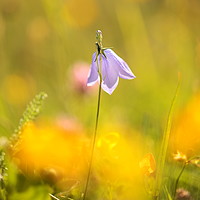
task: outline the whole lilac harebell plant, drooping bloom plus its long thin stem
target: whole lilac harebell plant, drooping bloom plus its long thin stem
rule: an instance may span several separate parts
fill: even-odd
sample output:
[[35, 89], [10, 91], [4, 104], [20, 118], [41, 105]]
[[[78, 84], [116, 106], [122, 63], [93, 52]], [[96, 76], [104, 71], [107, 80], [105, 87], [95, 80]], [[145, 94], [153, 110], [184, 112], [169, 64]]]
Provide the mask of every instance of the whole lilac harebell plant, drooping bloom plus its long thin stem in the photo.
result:
[[103, 48], [102, 32], [100, 30], [96, 32], [96, 39], [97, 50], [92, 56], [92, 65], [87, 80], [87, 86], [92, 86], [98, 81], [99, 94], [97, 103], [96, 124], [92, 141], [92, 149], [89, 160], [89, 169], [86, 179], [86, 185], [83, 193], [83, 200], [85, 200], [86, 198], [87, 188], [92, 169], [93, 154], [95, 149], [95, 141], [99, 121], [101, 89], [103, 89], [108, 94], [112, 94], [119, 83], [119, 77], [123, 79], [135, 78], [135, 75], [132, 73], [131, 69], [122, 58], [120, 58], [113, 50], [109, 48]]

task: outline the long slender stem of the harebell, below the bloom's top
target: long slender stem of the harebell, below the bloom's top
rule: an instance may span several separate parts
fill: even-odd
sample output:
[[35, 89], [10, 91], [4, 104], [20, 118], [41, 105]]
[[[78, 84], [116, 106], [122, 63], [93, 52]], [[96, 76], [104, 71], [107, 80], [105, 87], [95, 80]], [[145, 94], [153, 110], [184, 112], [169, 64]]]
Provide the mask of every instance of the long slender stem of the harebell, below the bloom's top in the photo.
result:
[[[98, 61], [97, 61], [97, 66], [99, 66]], [[94, 129], [94, 136], [93, 136], [93, 141], [92, 141], [92, 150], [91, 150], [91, 155], [90, 155], [90, 160], [89, 160], [89, 168], [88, 168], [88, 174], [87, 174], [87, 179], [86, 179], [86, 185], [85, 185], [85, 190], [84, 190], [84, 193], [83, 193], [83, 200], [85, 200], [85, 198], [86, 198], [86, 193], [87, 193], [88, 184], [89, 184], [90, 175], [91, 175], [91, 170], [92, 170], [92, 163], [93, 163], [93, 157], [94, 157], [94, 149], [95, 149], [95, 144], [96, 144], [96, 138], [97, 138], [99, 111], [100, 111], [100, 103], [101, 103], [101, 83], [102, 83], [102, 76], [101, 76], [100, 71], [101, 71], [101, 55], [100, 55], [100, 66], [99, 66], [100, 81], [99, 81], [99, 93], [98, 93], [98, 102], [97, 102], [96, 122], [95, 122], [95, 129]]]

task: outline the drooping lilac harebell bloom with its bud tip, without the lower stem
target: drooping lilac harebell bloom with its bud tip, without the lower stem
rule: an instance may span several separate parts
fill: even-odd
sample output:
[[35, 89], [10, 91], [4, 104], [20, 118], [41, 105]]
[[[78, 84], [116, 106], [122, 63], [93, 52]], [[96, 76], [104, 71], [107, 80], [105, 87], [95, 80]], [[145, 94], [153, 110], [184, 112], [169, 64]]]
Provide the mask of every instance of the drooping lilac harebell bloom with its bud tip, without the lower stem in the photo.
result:
[[97, 52], [92, 56], [92, 65], [88, 76], [87, 86], [94, 85], [100, 77], [102, 78], [102, 89], [112, 94], [119, 83], [119, 77], [123, 79], [134, 79], [127, 63], [120, 58], [113, 50], [102, 48], [102, 33], [97, 31], [100, 42], [97, 42]]

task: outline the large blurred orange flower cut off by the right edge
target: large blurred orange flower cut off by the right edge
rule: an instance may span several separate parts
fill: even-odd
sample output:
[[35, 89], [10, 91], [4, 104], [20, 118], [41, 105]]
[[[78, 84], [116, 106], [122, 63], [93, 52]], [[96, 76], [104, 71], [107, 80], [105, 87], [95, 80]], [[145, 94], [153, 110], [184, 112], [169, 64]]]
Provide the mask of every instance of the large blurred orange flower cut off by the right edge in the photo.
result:
[[171, 134], [171, 147], [188, 157], [200, 153], [200, 94], [195, 95], [178, 116]]

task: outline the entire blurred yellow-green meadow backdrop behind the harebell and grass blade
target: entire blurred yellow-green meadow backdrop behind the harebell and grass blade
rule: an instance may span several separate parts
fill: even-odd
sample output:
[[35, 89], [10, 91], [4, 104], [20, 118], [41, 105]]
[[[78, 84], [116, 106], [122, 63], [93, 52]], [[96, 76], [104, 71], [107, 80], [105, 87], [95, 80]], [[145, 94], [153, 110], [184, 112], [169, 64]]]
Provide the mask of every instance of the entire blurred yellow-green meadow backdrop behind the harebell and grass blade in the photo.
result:
[[[7, 199], [78, 199], [83, 191], [98, 93], [86, 81], [98, 29], [137, 78], [102, 93], [87, 198], [149, 198], [139, 163], [148, 153], [157, 162], [179, 74], [165, 168], [173, 191], [182, 166], [173, 153], [200, 153], [199, 24], [199, 0], [0, 0], [2, 148], [27, 104], [48, 94], [17, 150], [6, 152]], [[199, 178], [200, 169], [188, 166], [179, 182], [193, 199], [200, 199]]]

